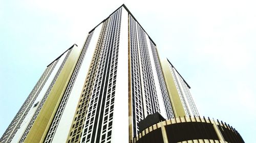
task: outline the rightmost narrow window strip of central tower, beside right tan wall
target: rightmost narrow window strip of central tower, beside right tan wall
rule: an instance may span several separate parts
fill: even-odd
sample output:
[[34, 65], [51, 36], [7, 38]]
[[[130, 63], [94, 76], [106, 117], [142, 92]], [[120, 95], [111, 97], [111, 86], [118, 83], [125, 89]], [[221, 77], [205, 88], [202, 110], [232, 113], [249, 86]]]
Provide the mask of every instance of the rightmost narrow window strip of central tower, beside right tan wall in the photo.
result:
[[174, 112], [173, 112], [173, 108], [172, 105], [170, 103], [170, 99], [169, 99], [169, 95], [167, 92], [167, 88], [164, 82], [164, 77], [163, 77], [163, 72], [161, 69], [161, 65], [160, 65], [160, 61], [159, 61], [159, 57], [158, 57], [158, 53], [157, 53], [157, 48], [156, 46], [152, 43], [152, 41], [150, 41], [151, 44], [151, 48], [152, 48], [152, 52], [153, 52], [153, 58], [154, 58], [154, 62], [156, 65], [156, 70], [157, 70], [157, 76], [158, 76], [158, 80], [160, 83], [160, 89], [161, 89], [161, 93], [162, 93], [162, 98], [163, 98], [163, 103], [164, 103], [164, 108], [166, 111], [166, 116], [167, 119], [174, 119]]

